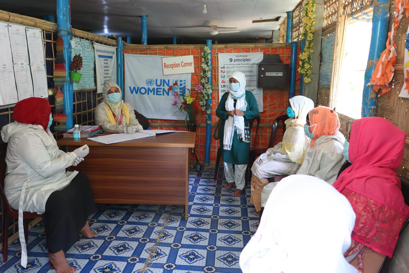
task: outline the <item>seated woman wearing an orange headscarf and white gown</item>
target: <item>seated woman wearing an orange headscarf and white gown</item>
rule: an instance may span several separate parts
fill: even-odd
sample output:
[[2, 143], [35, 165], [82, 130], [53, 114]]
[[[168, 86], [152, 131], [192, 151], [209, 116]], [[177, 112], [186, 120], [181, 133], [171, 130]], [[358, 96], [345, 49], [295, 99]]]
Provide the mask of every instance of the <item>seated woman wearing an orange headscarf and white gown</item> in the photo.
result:
[[[315, 176], [332, 185], [345, 161], [343, 155], [345, 137], [339, 131], [341, 124], [338, 114], [331, 108], [318, 106], [308, 113], [308, 117], [304, 131], [311, 140], [297, 174]], [[263, 207], [275, 184], [269, 183], [263, 188], [261, 193]]]

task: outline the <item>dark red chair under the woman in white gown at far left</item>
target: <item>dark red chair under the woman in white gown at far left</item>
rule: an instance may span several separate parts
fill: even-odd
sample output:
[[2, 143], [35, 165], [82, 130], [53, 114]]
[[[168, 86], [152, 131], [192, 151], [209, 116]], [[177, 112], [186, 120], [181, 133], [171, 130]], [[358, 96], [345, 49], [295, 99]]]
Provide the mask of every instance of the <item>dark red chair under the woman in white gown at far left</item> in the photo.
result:
[[[2, 142], [0, 144], [0, 195], [1, 195], [1, 207], [2, 207], [2, 236], [3, 236], [3, 262], [7, 262], [7, 248], [9, 241], [9, 218], [13, 217], [18, 219], [18, 210], [13, 210], [10, 207], [6, 194], [4, 193], [4, 178], [6, 177], [6, 152], [7, 143]], [[23, 212], [23, 224], [24, 224], [24, 237], [26, 243], [28, 242], [28, 224], [29, 218], [42, 218], [41, 214], [35, 212]]]

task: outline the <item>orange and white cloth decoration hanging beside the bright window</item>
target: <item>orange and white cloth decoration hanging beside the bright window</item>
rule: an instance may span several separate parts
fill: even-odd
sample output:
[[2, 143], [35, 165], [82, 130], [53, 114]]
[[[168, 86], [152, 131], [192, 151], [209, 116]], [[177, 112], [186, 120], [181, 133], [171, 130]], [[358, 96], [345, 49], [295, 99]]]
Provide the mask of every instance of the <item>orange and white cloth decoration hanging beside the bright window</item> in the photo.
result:
[[394, 13], [395, 20], [392, 24], [391, 32], [388, 33], [386, 41], [386, 49], [382, 52], [375, 70], [372, 73], [371, 81], [366, 86], [372, 86], [375, 92], [381, 91], [379, 96], [385, 95], [391, 91], [389, 82], [393, 78], [396, 64], [396, 43], [394, 36], [398, 29], [400, 19], [403, 17], [403, 12], [406, 12], [406, 17], [409, 17], [409, 0], [395, 0], [396, 11]]

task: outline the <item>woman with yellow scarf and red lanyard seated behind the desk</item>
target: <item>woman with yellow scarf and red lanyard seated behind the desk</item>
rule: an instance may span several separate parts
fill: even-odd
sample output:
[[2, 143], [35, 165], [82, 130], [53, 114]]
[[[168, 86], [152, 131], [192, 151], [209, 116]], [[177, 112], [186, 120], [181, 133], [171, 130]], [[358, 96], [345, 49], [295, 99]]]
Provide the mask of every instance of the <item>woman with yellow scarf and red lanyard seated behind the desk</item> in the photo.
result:
[[142, 131], [133, 107], [122, 100], [121, 88], [113, 82], [106, 81], [102, 89], [102, 99], [105, 103], [95, 107], [95, 124], [110, 133], [128, 133]]

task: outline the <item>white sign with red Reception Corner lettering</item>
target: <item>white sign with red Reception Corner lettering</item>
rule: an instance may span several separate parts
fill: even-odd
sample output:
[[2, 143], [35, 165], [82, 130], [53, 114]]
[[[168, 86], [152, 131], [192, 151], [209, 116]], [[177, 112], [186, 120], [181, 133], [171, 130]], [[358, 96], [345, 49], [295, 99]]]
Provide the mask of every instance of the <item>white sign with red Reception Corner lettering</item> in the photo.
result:
[[162, 69], [164, 76], [194, 73], [195, 65], [193, 62], [193, 55], [163, 57]]

